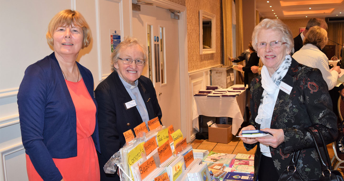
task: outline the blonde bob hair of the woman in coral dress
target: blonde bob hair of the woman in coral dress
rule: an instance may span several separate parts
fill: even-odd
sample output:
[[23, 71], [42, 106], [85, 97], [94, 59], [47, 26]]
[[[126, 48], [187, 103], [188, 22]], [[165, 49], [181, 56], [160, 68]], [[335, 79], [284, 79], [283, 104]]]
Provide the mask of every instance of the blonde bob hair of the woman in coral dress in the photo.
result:
[[85, 18], [78, 11], [70, 9], [65, 9], [58, 12], [53, 19], [50, 20], [48, 32], [46, 33], [48, 44], [54, 47], [53, 36], [58, 27], [72, 26], [72, 24], [82, 28], [84, 33], [82, 48], [88, 47], [92, 39], [91, 29], [89, 28]]

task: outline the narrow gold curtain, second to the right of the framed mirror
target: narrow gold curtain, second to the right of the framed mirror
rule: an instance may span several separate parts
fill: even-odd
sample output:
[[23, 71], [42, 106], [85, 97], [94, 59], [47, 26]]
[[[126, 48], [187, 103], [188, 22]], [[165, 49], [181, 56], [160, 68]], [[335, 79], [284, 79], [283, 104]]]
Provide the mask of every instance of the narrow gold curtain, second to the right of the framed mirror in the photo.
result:
[[[244, 51], [244, 28], [243, 28], [243, 0], [235, 1], [235, 14], [236, 14], [236, 55], [239, 56]], [[238, 64], [244, 64], [244, 61], [239, 62]], [[238, 72], [240, 73], [240, 72]], [[236, 84], [244, 84], [240, 79], [240, 76], [237, 76]]]

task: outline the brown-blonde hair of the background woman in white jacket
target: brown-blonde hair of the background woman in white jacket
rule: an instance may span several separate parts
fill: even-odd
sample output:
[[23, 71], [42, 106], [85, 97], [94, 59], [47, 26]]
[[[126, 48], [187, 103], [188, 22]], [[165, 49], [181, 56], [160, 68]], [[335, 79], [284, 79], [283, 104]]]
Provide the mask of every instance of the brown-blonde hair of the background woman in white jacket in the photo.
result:
[[316, 47], [323, 48], [327, 44], [327, 41], [329, 41], [327, 31], [320, 26], [314, 26], [307, 32], [303, 45], [310, 43]]

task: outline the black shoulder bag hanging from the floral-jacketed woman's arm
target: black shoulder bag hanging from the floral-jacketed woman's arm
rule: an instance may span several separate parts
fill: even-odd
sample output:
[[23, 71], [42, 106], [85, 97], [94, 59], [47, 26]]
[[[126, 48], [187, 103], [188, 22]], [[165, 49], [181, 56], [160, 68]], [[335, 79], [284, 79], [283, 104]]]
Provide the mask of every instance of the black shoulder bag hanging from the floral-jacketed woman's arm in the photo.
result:
[[[314, 133], [312, 132], [311, 129], [306, 128], [306, 130], [308, 132], [310, 132], [311, 137], [314, 141], [315, 149], [318, 153], [320, 164], [321, 164], [322, 175], [318, 181], [344, 181], [340, 172], [338, 172], [337, 170], [332, 170], [332, 166], [331, 166], [331, 162], [330, 162], [330, 156], [329, 156], [329, 153], [327, 151], [325, 141], [324, 141], [324, 138], [323, 138], [321, 131], [317, 127], [313, 127], [313, 128], [318, 130], [318, 133], [319, 133], [320, 138], [322, 140], [322, 147], [324, 148], [324, 152], [325, 152], [325, 157], [324, 157], [319, 150], [319, 143], [316, 141], [316, 139], [314, 137]], [[281, 176], [279, 178], [279, 181], [304, 181], [300, 177], [300, 174], [296, 170], [296, 167], [295, 167], [295, 165], [297, 164], [297, 161], [299, 159], [300, 152], [301, 151], [299, 150], [299, 151], [296, 151], [293, 153], [293, 157], [289, 163], [289, 166], [287, 167], [286, 170], [283, 171], [283, 173], [281, 174]]]

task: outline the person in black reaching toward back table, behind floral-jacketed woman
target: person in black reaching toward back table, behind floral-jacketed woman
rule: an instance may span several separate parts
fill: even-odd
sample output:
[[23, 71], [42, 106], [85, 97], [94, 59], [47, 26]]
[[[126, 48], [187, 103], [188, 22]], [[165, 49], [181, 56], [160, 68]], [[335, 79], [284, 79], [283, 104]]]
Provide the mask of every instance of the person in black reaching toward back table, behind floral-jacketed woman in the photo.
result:
[[258, 73], [252, 73], [251, 67], [252, 66], [257, 66], [259, 63], [259, 57], [257, 56], [256, 50], [253, 49], [252, 47], [252, 42], [248, 44], [248, 48], [250, 50], [250, 58], [246, 62], [246, 66], [243, 67], [243, 65], [238, 65], [238, 69], [240, 71], [244, 71], [244, 84], [246, 87], [246, 84], [250, 84], [253, 78], [258, 76]]

